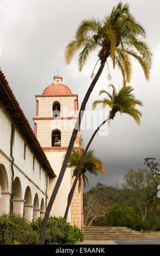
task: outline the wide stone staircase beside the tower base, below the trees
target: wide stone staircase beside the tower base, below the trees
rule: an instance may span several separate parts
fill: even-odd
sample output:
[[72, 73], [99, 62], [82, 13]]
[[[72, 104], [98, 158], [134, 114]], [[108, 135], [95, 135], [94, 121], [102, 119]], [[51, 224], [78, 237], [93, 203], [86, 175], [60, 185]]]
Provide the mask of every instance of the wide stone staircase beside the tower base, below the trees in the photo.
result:
[[140, 231], [127, 227], [82, 227], [84, 240], [150, 239]]

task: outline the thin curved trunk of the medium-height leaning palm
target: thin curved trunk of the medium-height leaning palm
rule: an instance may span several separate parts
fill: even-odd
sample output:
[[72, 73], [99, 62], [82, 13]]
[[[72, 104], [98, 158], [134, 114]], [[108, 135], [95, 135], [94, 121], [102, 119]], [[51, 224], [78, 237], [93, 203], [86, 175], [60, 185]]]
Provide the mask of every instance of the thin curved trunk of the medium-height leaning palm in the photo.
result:
[[79, 178], [79, 174], [81, 173], [81, 169], [82, 169], [82, 164], [83, 164], [85, 155], [87, 154], [87, 151], [88, 151], [88, 149], [89, 149], [89, 146], [90, 146], [91, 142], [93, 141], [93, 139], [94, 139], [96, 133], [100, 130], [101, 126], [102, 126], [103, 124], [105, 124], [109, 119], [110, 119], [110, 117], [108, 117], [106, 120], [104, 120], [103, 123], [101, 123], [101, 124], [99, 125], [99, 127], [97, 127], [97, 129], [96, 129], [95, 132], [93, 133], [93, 136], [91, 136], [90, 141], [89, 141], [88, 144], [87, 144], [87, 147], [85, 148], [84, 154], [83, 154], [83, 156], [82, 156], [81, 163], [79, 164], [79, 167], [78, 167], [78, 170], [77, 170], [76, 178], [75, 178], [75, 180], [74, 180], [74, 182], [73, 182], [72, 188], [71, 188], [71, 190], [70, 190], [70, 193], [69, 193], [69, 196], [68, 196], [68, 199], [67, 199], [67, 207], [66, 207], [66, 210], [65, 210], [64, 218], [67, 218], [67, 215], [68, 215], [68, 212], [69, 212], [69, 208], [70, 208], [70, 204], [71, 204], [71, 200], [72, 200], [73, 194], [74, 194], [74, 192], [75, 192], [75, 188], [76, 188], [76, 184], [77, 184], [77, 181], [78, 181], [78, 178]]

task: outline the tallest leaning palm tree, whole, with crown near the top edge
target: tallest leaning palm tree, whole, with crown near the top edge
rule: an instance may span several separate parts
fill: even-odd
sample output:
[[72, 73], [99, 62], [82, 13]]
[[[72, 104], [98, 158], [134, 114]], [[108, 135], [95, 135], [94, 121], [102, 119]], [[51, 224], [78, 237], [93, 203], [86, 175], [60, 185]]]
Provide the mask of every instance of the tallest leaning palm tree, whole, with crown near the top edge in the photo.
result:
[[41, 228], [41, 243], [44, 243], [45, 241], [48, 217], [50, 215], [54, 199], [56, 198], [61, 181], [63, 179], [67, 162], [69, 161], [77, 132], [79, 126], [81, 125], [85, 106], [97, 80], [102, 73], [107, 59], [112, 59], [114, 68], [116, 65], [120, 68], [124, 78], [124, 87], [126, 85], [126, 81], [130, 82], [131, 78], [132, 70], [130, 57], [138, 60], [140, 66], [144, 70], [146, 79], [149, 79], [152, 53], [146, 42], [141, 40], [141, 38], [144, 37], [145, 30], [130, 13], [129, 5], [123, 5], [122, 2], [119, 2], [118, 5], [113, 7], [112, 12], [105, 16], [102, 21], [94, 18], [83, 20], [77, 29], [75, 39], [73, 39], [66, 46], [65, 59], [67, 64], [71, 62], [71, 59], [77, 50], [82, 49], [78, 59], [79, 70], [81, 71], [87, 60], [87, 57], [89, 56], [89, 53], [97, 50], [99, 51], [98, 60], [100, 61], [100, 67], [82, 101], [78, 119], [72, 132], [65, 159], [61, 166], [56, 185], [54, 186], [50, 201], [46, 209]]

